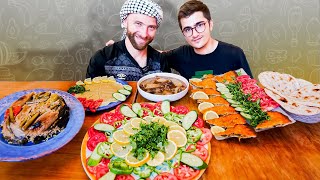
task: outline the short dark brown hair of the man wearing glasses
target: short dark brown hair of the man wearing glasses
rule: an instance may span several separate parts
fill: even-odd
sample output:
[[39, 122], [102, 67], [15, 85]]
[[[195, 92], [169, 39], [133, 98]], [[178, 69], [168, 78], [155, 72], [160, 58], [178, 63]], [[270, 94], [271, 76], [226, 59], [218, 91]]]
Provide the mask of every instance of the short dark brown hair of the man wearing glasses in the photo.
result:
[[180, 29], [182, 29], [181, 22], [180, 20], [182, 18], [186, 18], [191, 16], [195, 12], [202, 12], [203, 16], [210, 21], [211, 20], [211, 15], [210, 11], [207, 5], [205, 5], [203, 2], [198, 1], [198, 0], [190, 0], [185, 2], [179, 9], [178, 12], [178, 21], [179, 21], [179, 26]]

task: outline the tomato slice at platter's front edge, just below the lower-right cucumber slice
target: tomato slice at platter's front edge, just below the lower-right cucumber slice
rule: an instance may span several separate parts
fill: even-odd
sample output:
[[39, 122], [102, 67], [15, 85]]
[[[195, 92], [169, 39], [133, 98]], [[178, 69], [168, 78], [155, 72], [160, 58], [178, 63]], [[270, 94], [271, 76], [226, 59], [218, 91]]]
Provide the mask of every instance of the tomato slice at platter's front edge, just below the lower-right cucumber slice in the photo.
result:
[[179, 180], [191, 180], [194, 179], [200, 173], [199, 170], [193, 169], [190, 166], [187, 166], [182, 163], [179, 167], [175, 168], [173, 172]]

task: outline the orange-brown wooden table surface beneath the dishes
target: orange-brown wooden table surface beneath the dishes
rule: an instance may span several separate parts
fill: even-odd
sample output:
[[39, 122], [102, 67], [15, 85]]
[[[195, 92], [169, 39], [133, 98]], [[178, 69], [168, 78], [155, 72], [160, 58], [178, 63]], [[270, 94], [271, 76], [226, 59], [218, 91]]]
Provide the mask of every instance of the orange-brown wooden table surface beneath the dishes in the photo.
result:
[[[12, 93], [49, 88], [67, 91], [75, 81], [0, 81], [0, 99]], [[148, 102], [129, 81], [132, 94], [124, 103]], [[191, 91], [171, 105], [197, 109]], [[0, 179], [88, 179], [80, 159], [87, 130], [107, 109], [85, 112], [77, 135], [62, 148], [41, 158], [22, 162], [0, 162]], [[199, 112], [198, 112], [199, 113]], [[200, 113], [199, 113], [200, 114]], [[206, 124], [206, 126], [209, 126]], [[1, 142], [0, 142], [1, 143]], [[299, 122], [257, 133], [256, 138], [229, 138], [211, 142], [210, 161], [201, 179], [320, 179], [320, 123]]]

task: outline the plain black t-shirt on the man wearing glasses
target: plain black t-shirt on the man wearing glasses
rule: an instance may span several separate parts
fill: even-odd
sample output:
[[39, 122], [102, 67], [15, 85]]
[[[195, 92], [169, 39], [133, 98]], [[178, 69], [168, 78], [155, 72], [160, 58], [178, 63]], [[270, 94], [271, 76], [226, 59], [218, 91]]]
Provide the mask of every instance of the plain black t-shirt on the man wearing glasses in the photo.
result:
[[219, 41], [217, 48], [209, 54], [200, 55], [190, 45], [164, 52], [163, 58], [168, 66], [177, 70], [183, 77], [190, 79], [197, 71], [212, 70], [214, 75], [243, 68], [252, 77], [242, 49]]

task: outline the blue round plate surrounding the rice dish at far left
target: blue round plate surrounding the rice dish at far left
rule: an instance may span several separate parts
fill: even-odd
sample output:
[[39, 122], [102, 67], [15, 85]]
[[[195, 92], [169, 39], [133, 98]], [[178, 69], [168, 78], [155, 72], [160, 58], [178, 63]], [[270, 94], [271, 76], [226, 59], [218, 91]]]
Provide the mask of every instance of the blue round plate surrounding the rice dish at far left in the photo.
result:
[[[81, 103], [71, 94], [54, 89], [32, 89], [19, 91], [0, 99], [0, 123], [4, 120], [4, 113], [10, 105], [21, 96], [31, 92], [50, 91], [63, 97], [70, 108], [69, 122], [56, 136], [39, 144], [28, 143], [24, 146], [8, 144], [0, 133], [0, 161], [26, 161], [48, 155], [70, 142], [79, 132], [84, 122], [84, 109]], [[0, 132], [2, 129], [0, 129]]]

